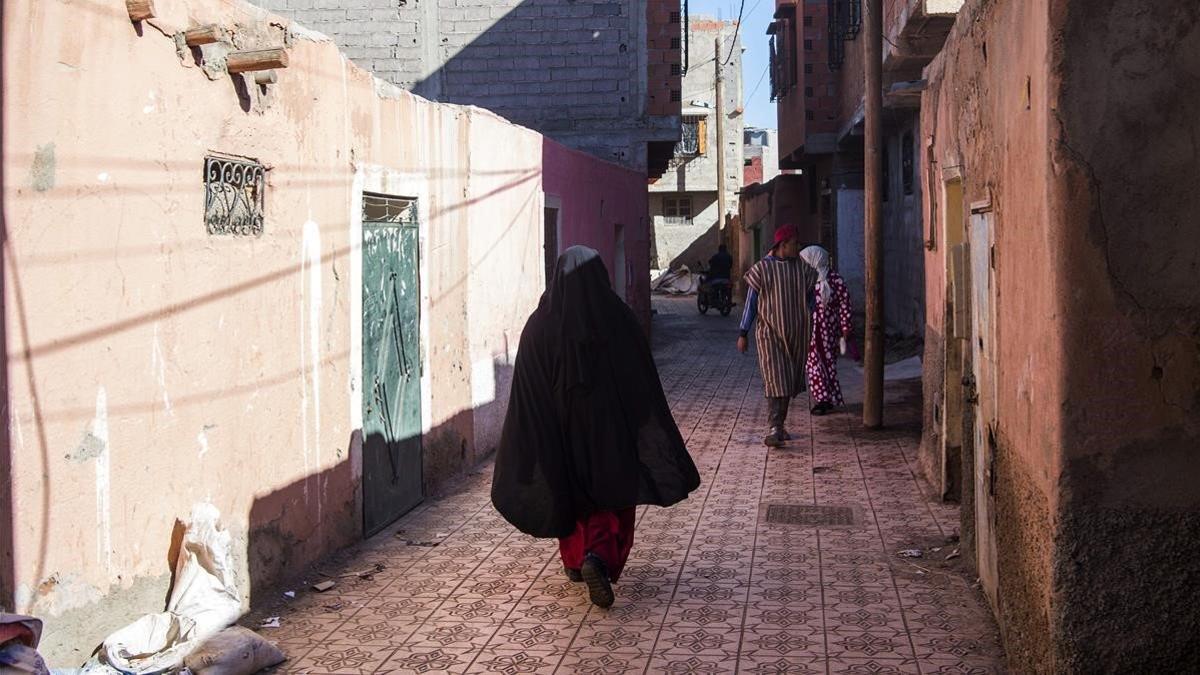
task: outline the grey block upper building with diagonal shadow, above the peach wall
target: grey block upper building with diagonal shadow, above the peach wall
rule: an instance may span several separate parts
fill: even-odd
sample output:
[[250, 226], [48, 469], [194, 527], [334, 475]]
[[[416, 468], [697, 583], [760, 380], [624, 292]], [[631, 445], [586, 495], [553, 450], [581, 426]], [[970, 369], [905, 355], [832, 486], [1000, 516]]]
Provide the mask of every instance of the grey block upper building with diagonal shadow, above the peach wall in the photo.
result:
[[679, 139], [679, 0], [256, 0], [378, 77], [659, 175]]

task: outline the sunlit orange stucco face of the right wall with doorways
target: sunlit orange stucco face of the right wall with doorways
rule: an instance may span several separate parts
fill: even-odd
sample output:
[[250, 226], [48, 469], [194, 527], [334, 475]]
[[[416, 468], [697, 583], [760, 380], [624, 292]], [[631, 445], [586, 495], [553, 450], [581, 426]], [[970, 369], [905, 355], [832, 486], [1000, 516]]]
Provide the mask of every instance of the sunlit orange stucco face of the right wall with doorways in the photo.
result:
[[[994, 381], [980, 383], [979, 405], [968, 406], [962, 461], [964, 539], [977, 546], [972, 414], [982, 414], [995, 437], [990, 498], [995, 504], [997, 592], [992, 598], [1010, 665], [1016, 671], [1049, 667], [1052, 522], [1061, 461], [1063, 400], [1058, 279], [1067, 259], [1056, 240], [1061, 211], [1050, 202], [1050, 110], [1046, 100], [1048, 16], [1026, 2], [968, 2], [942, 54], [926, 68], [922, 139], [934, 143], [925, 191], [942, 226], [925, 257], [928, 344], [946, 345], [947, 228], [964, 228], [971, 204], [994, 217], [991, 311], [996, 359]], [[1031, 102], [1025, 102], [1028, 78]], [[946, 214], [943, 181], [961, 175], [964, 213]], [[943, 220], [944, 219], [944, 220]], [[1037, 225], [1036, 225], [1037, 223]], [[962, 232], [960, 229], [959, 232]], [[962, 240], [962, 237], [959, 237]], [[964, 344], [970, 353], [970, 345]], [[944, 400], [944, 360], [926, 359], [926, 418]], [[970, 365], [967, 365], [967, 372]], [[948, 386], [954, 387], [953, 382]], [[930, 395], [932, 394], [932, 395]], [[948, 420], [954, 423], [954, 420]], [[926, 428], [929, 434], [930, 428]], [[937, 442], [923, 443], [922, 465], [941, 471]]]

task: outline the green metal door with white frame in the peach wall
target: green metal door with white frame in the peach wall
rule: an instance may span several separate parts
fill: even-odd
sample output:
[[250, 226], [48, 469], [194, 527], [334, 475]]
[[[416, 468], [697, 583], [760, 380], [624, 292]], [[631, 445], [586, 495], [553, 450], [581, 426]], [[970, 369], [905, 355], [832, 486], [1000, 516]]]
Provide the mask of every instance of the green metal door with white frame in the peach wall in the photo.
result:
[[362, 519], [367, 536], [424, 498], [416, 202], [362, 198]]

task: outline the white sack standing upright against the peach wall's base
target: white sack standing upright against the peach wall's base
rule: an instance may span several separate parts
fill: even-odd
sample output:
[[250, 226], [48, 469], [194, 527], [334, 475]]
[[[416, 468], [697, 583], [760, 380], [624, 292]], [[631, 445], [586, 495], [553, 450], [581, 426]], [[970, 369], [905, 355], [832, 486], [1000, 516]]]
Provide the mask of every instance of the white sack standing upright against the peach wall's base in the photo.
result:
[[241, 615], [241, 593], [233, 567], [233, 542], [221, 530], [221, 512], [196, 504], [175, 563], [175, 586], [167, 611], [196, 622], [196, 639], [210, 638]]

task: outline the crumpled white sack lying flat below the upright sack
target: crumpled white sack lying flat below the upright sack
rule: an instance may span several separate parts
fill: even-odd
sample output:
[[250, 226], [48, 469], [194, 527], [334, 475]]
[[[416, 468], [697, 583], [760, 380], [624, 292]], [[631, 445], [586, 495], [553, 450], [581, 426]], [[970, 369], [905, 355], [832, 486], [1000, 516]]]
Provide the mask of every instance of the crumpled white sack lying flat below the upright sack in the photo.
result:
[[104, 640], [104, 661], [121, 673], [166, 673], [196, 649], [194, 631], [191, 619], [167, 611], [148, 614]]

